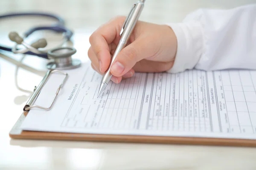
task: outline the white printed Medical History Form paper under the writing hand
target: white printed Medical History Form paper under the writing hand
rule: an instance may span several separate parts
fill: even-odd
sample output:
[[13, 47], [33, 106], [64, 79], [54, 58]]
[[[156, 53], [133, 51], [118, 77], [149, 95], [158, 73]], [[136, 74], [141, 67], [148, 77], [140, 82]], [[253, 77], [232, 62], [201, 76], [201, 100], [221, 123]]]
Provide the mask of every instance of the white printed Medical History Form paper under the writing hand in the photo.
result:
[[[29, 111], [23, 130], [256, 139], [256, 71], [136, 73], [99, 98], [90, 66], [67, 72], [52, 109]], [[52, 75], [35, 104], [49, 105], [62, 79]]]

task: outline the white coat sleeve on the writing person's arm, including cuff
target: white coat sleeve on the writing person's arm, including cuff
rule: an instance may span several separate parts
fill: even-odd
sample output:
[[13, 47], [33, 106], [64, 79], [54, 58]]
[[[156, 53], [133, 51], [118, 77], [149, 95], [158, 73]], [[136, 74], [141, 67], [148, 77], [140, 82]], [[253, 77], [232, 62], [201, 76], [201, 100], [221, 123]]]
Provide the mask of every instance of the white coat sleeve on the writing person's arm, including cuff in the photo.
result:
[[177, 37], [177, 54], [167, 72], [256, 69], [256, 4], [199, 9], [168, 25]]

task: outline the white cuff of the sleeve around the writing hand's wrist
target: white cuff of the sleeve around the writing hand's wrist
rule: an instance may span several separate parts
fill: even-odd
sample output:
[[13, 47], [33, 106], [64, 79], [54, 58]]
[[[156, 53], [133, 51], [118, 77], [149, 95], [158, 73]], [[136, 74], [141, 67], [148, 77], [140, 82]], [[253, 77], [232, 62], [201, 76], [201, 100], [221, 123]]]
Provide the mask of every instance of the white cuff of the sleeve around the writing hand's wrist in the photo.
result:
[[177, 37], [177, 53], [174, 65], [168, 73], [178, 73], [192, 69], [197, 64], [203, 50], [203, 29], [200, 23], [167, 24]]

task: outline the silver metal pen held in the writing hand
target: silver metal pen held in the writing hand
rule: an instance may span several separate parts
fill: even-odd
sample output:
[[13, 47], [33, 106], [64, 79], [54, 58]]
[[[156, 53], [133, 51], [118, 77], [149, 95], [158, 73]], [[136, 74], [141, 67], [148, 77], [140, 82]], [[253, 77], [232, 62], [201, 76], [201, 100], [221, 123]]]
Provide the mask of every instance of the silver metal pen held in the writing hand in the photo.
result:
[[132, 31], [134, 30], [134, 26], [136, 25], [141, 11], [144, 7], [145, 0], [140, 0], [134, 6], [131, 8], [131, 11], [129, 12], [128, 16], [125, 19], [125, 22], [122, 26], [122, 29], [120, 31], [121, 39], [119, 40], [119, 43], [116, 47], [116, 51], [114, 52], [110, 65], [107, 69], [107, 71], [104, 73], [100, 86], [99, 86], [99, 92], [98, 97], [102, 94], [105, 87], [108, 85], [108, 82], [111, 80], [112, 74], [110, 72], [111, 65], [113, 64], [114, 60], [116, 59], [116, 56], [119, 54], [119, 52], [125, 47], [127, 41], [129, 40]]

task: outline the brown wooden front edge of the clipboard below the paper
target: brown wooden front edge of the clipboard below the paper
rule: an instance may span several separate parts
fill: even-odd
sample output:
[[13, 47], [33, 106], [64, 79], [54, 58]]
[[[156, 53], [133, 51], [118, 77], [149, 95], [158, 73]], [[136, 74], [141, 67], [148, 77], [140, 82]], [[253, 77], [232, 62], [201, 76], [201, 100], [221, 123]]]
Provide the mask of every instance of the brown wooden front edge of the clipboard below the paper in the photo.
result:
[[9, 136], [12, 139], [256, 147], [256, 140], [251, 140], [251, 139], [222, 139], [222, 138], [218, 139], [218, 138], [172, 137], [172, 136], [132, 136], [132, 135], [54, 133], [54, 132], [34, 132], [34, 131], [23, 131], [20, 135], [9, 134]]

